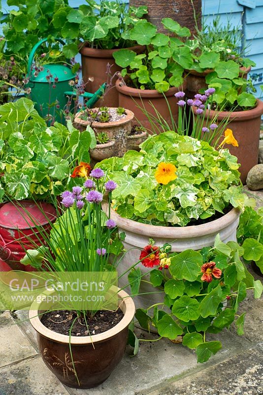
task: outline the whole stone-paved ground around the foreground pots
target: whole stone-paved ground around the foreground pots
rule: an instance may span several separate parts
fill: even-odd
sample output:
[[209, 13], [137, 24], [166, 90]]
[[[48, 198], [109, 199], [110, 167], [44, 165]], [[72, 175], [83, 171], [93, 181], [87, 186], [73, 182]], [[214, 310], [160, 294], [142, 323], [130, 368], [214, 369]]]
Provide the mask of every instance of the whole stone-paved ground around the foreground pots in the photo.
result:
[[[239, 314], [244, 311], [244, 336], [232, 327], [207, 336], [223, 346], [208, 362], [197, 364], [181, 344], [141, 342], [137, 356], [127, 347], [109, 379], [91, 390], [67, 388], [47, 369], [28, 312], [0, 313], [0, 395], [263, 395], [263, 298], [254, 300], [249, 290]], [[137, 336], [156, 338], [139, 330]]]

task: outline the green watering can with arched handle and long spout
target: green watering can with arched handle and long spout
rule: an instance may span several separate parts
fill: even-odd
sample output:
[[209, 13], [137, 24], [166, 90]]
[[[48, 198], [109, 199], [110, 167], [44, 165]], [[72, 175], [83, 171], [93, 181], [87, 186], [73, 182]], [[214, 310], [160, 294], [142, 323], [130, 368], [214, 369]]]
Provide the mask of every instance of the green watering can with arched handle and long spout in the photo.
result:
[[[72, 73], [71, 68], [66, 66], [65, 64], [58, 63], [50, 63], [44, 65], [44, 70], [38, 72], [36, 76], [33, 74], [32, 65], [33, 58], [36, 49], [48, 39], [42, 39], [37, 42], [29, 55], [28, 60], [28, 75], [29, 82], [27, 84], [27, 88], [31, 88], [30, 98], [35, 103], [34, 107], [39, 115], [45, 118], [48, 114], [51, 114], [52, 117], [55, 118], [58, 122], [65, 122], [65, 118], [61, 114], [61, 109], [65, 109], [68, 96], [73, 97], [76, 96], [76, 92], [73, 91], [73, 88], [69, 85], [70, 80], [74, 80], [76, 75]], [[61, 44], [65, 45], [65, 42], [60, 39], [55, 39], [59, 41]], [[67, 60], [67, 63], [70, 63]], [[52, 75], [51, 79], [47, 79], [48, 75]], [[53, 88], [52, 85], [55, 85], [56, 88]], [[99, 97], [104, 93], [106, 87], [106, 83], [102, 84], [100, 88], [95, 93], [85, 92], [79, 96], [87, 98], [85, 104], [88, 108], [91, 108], [95, 105]], [[74, 101], [72, 101], [71, 110], [74, 108]], [[50, 107], [51, 104], [57, 103], [59, 104], [59, 109], [56, 108], [56, 105]]]

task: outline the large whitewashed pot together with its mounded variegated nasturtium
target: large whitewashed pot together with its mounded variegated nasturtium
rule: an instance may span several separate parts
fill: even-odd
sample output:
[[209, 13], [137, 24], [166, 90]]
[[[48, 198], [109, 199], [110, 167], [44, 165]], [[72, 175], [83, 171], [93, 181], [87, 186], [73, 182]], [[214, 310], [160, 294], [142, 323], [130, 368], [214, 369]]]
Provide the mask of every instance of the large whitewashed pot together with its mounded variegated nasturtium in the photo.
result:
[[118, 184], [112, 218], [126, 233], [128, 250], [120, 272], [140, 256], [149, 238], [177, 252], [212, 246], [218, 234], [224, 242], [236, 241], [240, 210], [249, 199], [228, 149], [218, 152], [205, 141], [173, 131], [148, 137], [140, 148], [100, 163]]

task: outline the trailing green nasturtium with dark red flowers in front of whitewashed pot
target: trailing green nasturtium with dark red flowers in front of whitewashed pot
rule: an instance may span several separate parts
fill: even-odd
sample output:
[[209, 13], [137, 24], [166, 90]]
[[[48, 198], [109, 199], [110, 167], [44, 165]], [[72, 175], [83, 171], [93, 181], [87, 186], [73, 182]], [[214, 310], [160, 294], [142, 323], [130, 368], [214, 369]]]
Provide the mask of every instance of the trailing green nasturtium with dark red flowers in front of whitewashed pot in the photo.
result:
[[[160, 253], [162, 251], [161, 247]], [[162, 252], [167, 256], [163, 258], [166, 266], [163, 267], [161, 259], [161, 266], [150, 272], [150, 282], [158, 287], [157, 292], [163, 291], [164, 303], [137, 309], [137, 321], [144, 329], [157, 329], [160, 339], [174, 340], [182, 336], [183, 345], [196, 351], [197, 362], [206, 362], [222, 348], [220, 335], [214, 340], [215, 335], [212, 338], [210, 334], [218, 334], [230, 325], [235, 326], [238, 335], [244, 334], [246, 313], [239, 315], [238, 306], [245, 299], [247, 289], [254, 290], [255, 298], [261, 297], [262, 282], [255, 281], [241, 262], [245, 253], [245, 248], [240, 248], [237, 242], [225, 244], [219, 235], [213, 247], [172, 252], [169, 257]], [[184, 265], [179, 270], [179, 262], [191, 263], [191, 269]], [[219, 269], [220, 262], [222, 269]], [[138, 293], [140, 279], [143, 279], [138, 269], [136, 278], [133, 287]]]

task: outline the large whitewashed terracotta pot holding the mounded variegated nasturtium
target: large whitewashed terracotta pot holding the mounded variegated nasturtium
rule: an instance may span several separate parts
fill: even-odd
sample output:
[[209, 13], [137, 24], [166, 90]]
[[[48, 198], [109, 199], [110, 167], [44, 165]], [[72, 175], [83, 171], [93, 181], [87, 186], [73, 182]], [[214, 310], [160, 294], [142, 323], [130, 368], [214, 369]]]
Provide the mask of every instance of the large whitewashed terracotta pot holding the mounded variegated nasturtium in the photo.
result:
[[[103, 210], [107, 212], [107, 203], [103, 204]], [[123, 244], [127, 252], [123, 256], [120, 265], [118, 265], [117, 270], [119, 276], [139, 260], [140, 249], [149, 244], [149, 238], [153, 238], [155, 244], [159, 247], [164, 245], [164, 243], [169, 243], [172, 252], [181, 252], [189, 248], [199, 250], [203, 247], [213, 246], [215, 237], [218, 234], [224, 242], [236, 241], [239, 215], [240, 211], [233, 208], [228, 214], [214, 221], [207, 222], [207, 224], [185, 227], [164, 227], [132, 221], [121, 217], [114, 210], [111, 210], [110, 217], [116, 222], [119, 233], [125, 232], [126, 234]], [[141, 264], [139, 264], [139, 268], [142, 274], [146, 274], [151, 270]], [[149, 275], [144, 276], [143, 279], [149, 281]], [[129, 284], [129, 281], [127, 275], [124, 275], [119, 279], [119, 286], [124, 287], [127, 284]], [[129, 287], [126, 288], [126, 290], [129, 289]], [[145, 309], [154, 303], [162, 303], [164, 301], [164, 293], [160, 292], [158, 288], [152, 287], [147, 282], [141, 282], [139, 292], [144, 295], [133, 297], [137, 309]], [[147, 295], [146, 293], [149, 294]]]

